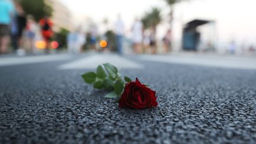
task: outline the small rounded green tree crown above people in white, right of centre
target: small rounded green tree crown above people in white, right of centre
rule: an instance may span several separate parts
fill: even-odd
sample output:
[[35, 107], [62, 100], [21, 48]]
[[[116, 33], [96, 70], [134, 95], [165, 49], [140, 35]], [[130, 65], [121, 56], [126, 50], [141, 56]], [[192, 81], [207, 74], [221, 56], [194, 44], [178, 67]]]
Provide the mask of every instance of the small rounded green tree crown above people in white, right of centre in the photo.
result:
[[151, 11], [146, 13], [142, 18], [142, 23], [145, 28], [156, 27], [161, 21], [161, 10], [159, 8], [152, 8]]

